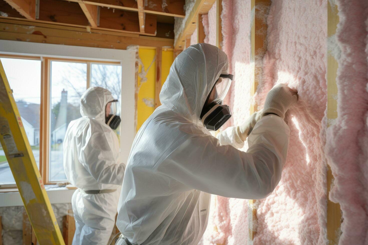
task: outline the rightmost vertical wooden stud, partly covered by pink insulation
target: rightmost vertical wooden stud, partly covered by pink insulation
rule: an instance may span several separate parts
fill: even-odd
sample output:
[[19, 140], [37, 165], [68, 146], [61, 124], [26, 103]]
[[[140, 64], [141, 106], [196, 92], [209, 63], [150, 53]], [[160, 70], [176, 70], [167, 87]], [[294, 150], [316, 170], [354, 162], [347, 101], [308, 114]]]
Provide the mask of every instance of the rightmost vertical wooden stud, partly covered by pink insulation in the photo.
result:
[[[337, 24], [339, 24], [339, 12], [334, 1], [327, 1], [327, 36], [333, 38], [336, 34]], [[326, 40], [327, 42], [327, 40]], [[328, 43], [328, 42], [327, 42]], [[329, 50], [329, 48], [327, 48]], [[337, 76], [338, 63], [333, 54], [327, 54], [327, 118], [328, 126], [330, 126], [331, 119], [337, 118]], [[331, 186], [333, 184], [333, 175], [330, 166], [327, 170], [327, 195], [329, 196]], [[341, 235], [341, 209], [339, 203], [332, 202], [329, 198], [327, 200], [327, 238], [329, 245], [339, 244], [339, 237]]]

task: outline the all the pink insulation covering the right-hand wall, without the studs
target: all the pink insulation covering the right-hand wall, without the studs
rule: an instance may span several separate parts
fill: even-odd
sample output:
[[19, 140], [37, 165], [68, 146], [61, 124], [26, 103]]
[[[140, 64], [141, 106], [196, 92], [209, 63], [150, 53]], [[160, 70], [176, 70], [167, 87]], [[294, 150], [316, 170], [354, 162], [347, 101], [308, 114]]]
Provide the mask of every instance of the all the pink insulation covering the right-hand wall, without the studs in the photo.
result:
[[[244, 122], [252, 101], [262, 109], [276, 84], [297, 89], [299, 101], [285, 118], [291, 133], [282, 179], [256, 203], [254, 241], [248, 241], [248, 200], [213, 195], [200, 244], [328, 244], [327, 164], [335, 177], [330, 199], [340, 203], [343, 213], [340, 244], [368, 244], [368, 1], [335, 2], [340, 24], [332, 39], [327, 38], [327, 1], [273, 0], [270, 8], [256, 6], [268, 13], [268, 43], [262, 78], [251, 98], [255, 10], [250, 1], [223, 0], [222, 49], [235, 75], [224, 101], [233, 112], [226, 126]], [[215, 6], [203, 16], [205, 42], [211, 44], [216, 42], [213, 13]], [[339, 64], [335, 120], [326, 116], [328, 47]]]

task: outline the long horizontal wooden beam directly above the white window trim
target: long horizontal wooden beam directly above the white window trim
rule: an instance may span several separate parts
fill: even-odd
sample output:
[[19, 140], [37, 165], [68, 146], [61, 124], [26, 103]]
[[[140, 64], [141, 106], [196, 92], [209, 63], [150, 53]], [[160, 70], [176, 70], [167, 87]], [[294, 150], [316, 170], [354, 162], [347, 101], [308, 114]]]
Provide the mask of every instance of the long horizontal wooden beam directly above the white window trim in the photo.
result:
[[173, 39], [0, 17], [0, 39], [126, 49], [131, 44], [173, 47]]

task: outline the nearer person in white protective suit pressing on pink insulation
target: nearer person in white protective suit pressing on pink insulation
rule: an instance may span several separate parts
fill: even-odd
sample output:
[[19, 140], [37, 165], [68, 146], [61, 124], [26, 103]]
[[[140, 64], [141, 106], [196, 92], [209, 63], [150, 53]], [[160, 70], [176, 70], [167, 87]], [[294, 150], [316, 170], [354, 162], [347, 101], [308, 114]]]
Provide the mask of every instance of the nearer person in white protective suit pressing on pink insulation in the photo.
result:
[[[283, 118], [296, 91], [275, 87], [263, 114], [214, 137], [209, 130], [229, 118], [222, 100], [231, 79], [226, 54], [210, 44], [192, 45], [174, 60], [162, 106], [139, 129], [130, 152], [117, 244], [196, 245], [206, 230], [211, 194], [261, 199], [279, 183], [290, 132]], [[238, 150], [247, 137], [247, 152]]]

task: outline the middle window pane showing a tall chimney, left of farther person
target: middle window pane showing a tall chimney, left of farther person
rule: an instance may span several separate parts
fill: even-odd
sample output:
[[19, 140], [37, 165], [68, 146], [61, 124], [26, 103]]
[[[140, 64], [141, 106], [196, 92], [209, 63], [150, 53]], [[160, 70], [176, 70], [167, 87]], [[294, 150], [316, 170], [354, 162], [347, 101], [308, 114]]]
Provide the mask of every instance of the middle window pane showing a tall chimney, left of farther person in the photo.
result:
[[80, 98], [86, 90], [87, 64], [51, 62], [49, 180], [64, 181], [63, 141], [69, 123], [81, 117]]

